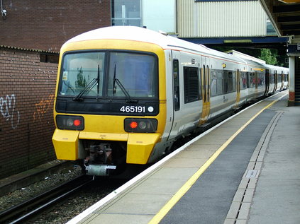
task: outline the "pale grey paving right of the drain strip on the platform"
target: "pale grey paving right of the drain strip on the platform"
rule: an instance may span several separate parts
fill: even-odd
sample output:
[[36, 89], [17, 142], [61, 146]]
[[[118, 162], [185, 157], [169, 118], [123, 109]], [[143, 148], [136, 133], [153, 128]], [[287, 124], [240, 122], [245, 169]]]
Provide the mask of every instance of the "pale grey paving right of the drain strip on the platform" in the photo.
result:
[[284, 113], [274, 129], [252, 199], [249, 224], [300, 223], [300, 107]]

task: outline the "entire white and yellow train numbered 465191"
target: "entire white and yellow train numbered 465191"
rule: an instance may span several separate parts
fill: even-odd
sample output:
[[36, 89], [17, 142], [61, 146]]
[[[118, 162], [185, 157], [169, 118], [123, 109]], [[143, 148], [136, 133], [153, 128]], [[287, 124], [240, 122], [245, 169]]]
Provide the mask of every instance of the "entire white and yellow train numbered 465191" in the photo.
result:
[[53, 109], [57, 159], [97, 176], [155, 163], [224, 114], [289, 87], [289, 69], [233, 53], [133, 26], [68, 40]]

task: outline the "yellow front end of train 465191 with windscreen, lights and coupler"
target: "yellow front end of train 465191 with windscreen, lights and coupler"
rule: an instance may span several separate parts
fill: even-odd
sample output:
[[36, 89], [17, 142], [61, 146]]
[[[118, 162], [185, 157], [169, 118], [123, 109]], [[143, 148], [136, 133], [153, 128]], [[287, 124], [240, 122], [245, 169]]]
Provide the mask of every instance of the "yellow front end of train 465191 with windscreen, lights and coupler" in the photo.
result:
[[161, 155], [154, 148], [166, 120], [164, 51], [115, 30], [84, 33], [60, 51], [52, 142], [57, 159], [82, 160], [88, 175]]

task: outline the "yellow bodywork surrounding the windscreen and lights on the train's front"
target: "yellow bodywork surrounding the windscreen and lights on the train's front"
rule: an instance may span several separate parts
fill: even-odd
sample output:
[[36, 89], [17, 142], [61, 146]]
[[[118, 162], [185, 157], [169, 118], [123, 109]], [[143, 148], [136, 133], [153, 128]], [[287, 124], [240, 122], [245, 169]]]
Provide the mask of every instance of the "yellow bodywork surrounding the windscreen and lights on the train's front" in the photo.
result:
[[[83, 131], [68, 131], [56, 129], [52, 137], [57, 159], [77, 160], [79, 159], [80, 139], [103, 140], [103, 141], [127, 141], [127, 163], [146, 164], [152, 150], [165, 129], [166, 122], [166, 93], [165, 93], [165, 52], [158, 45], [148, 42], [130, 40], [87, 40], [81, 42], [70, 42], [62, 46], [60, 52], [60, 63], [57, 76], [57, 87], [60, 81], [60, 67], [62, 55], [65, 52], [87, 50], [87, 49], [117, 49], [134, 50], [140, 52], [152, 52], [158, 57], [159, 96], [160, 112], [157, 116], [143, 117], [155, 118], [158, 121], [157, 131], [154, 134], [148, 133], [127, 133], [124, 131], [123, 121], [128, 116], [92, 115], [92, 114], [65, 114], [84, 117]], [[56, 101], [56, 98], [55, 98]], [[56, 103], [56, 102], [55, 102]], [[54, 108], [54, 117], [57, 113]], [[138, 118], [138, 117], [136, 117]]]

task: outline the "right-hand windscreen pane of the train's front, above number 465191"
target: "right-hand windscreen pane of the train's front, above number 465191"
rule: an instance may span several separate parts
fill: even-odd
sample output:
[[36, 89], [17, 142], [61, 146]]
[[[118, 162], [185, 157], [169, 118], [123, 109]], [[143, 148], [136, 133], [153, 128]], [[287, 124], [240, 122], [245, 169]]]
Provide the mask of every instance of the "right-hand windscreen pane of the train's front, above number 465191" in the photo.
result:
[[155, 73], [155, 57], [152, 55], [111, 52], [108, 96], [154, 98], [157, 86]]

